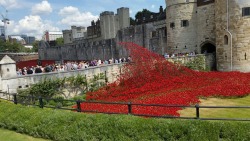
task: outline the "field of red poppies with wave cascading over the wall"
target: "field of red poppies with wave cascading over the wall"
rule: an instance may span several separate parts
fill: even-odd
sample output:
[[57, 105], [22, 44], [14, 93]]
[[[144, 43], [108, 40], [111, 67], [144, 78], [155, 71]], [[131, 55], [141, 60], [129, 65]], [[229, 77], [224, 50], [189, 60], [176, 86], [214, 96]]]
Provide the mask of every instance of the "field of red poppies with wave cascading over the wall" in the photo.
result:
[[[131, 63], [115, 82], [95, 92], [87, 100], [138, 104], [194, 105], [200, 97], [243, 97], [250, 94], [250, 73], [198, 72], [167, 62], [162, 56], [133, 43], [122, 43]], [[127, 113], [127, 105], [81, 103], [82, 110]], [[179, 116], [180, 108], [132, 107], [134, 114]]]

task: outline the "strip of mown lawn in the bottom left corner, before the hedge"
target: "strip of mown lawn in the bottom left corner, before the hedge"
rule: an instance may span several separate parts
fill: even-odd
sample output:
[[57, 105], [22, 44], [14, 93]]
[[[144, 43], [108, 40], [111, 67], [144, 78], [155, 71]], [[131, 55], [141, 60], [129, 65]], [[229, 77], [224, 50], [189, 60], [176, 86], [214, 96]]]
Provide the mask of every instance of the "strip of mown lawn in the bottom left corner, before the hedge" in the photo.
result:
[[0, 141], [49, 141], [0, 128]]

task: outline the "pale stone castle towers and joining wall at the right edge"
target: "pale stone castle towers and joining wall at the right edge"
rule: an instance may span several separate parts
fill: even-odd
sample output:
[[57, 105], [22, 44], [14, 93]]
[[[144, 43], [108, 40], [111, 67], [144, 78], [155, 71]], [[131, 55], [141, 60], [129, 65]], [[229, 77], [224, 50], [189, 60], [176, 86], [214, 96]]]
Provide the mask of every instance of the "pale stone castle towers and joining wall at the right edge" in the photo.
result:
[[[204, 53], [214, 49], [217, 70], [250, 71], [249, 0], [166, 0], [166, 4], [168, 50]], [[183, 20], [189, 25], [183, 27]]]

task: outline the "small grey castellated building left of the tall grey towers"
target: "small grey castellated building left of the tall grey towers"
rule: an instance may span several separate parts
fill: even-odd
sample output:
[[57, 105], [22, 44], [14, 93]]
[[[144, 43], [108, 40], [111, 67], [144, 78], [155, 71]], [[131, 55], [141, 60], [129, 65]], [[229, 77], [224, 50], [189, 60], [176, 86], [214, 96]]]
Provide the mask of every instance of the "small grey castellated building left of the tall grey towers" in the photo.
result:
[[64, 44], [73, 43], [75, 40], [83, 39], [86, 36], [87, 30], [82, 26], [71, 26], [70, 30], [63, 30]]

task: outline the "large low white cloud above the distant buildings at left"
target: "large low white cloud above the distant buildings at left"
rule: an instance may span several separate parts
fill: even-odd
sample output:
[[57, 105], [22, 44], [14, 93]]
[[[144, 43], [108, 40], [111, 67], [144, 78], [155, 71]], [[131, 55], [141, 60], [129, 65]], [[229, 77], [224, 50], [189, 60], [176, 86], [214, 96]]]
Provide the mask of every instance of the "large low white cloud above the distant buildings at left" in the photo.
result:
[[18, 23], [11, 21], [8, 25], [9, 34], [27, 34], [37, 39], [42, 38], [45, 30], [59, 31], [59, 28], [52, 26], [49, 21], [43, 21], [40, 16], [34, 15], [25, 16]]

